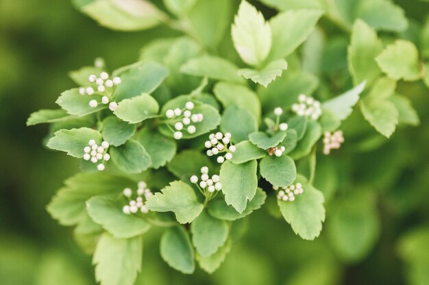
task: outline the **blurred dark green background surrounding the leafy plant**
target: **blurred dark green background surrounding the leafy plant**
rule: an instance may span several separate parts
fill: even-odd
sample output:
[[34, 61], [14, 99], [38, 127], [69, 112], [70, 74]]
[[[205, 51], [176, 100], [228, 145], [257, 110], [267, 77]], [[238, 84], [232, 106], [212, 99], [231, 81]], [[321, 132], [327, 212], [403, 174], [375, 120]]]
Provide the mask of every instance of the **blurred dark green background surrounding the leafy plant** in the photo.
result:
[[[424, 23], [429, 3], [396, 2], [408, 18]], [[60, 92], [74, 87], [69, 70], [93, 64], [95, 57], [106, 59], [110, 70], [135, 62], [140, 47], [160, 33], [175, 36], [165, 27], [110, 31], [69, 1], [0, 0], [0, 284], [95, 284], [90, 257], [77, 247], [71, 229], [45, 211], [62, 180], [78, 171], [77, 160], [47, 151], [41, 144], [47, 126], [27, 128], [25, 121], [32, 111], [56, 108]], [[371, 167], [349, 174], [366, 181], [360, 187], [378, 191], [381, 233], [369, 254], [344, 260], [327, 243], [326, 229], [316, 241], [302, 241], [284, 221], [259, 211], [249, 225], [234, 229], [239, 237], [247, 228], [245, 238], [211, 277], [170, 269], [158, 254], [159, 233], [151, 232], [137, 284], [410, 284], [414, 275], [429, 280], [427, 256], [416, 265], [410, 261], [419, 252], [413, 242], [402, 255], [397, 247], [409, 230], [428, 228], [429, 92], [420, 83], [401, 88], [417, 107], [421, 126], [398, 130], [380, 150], [354, 154], [356, 169]]]

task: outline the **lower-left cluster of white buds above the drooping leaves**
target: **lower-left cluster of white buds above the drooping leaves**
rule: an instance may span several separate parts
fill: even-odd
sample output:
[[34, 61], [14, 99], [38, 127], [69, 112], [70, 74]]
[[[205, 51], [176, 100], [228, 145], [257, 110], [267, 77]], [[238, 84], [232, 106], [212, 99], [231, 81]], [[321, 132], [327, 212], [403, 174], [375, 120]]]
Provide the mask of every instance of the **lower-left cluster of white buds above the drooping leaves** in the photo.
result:
[[[138, 189], [136, 191], [136, 195], [133, 195], [133, 191], [131, 188], [125, 188], [122, 191], [125, 198], [128, 200], [128, 204], [123, 206], [122, 211], [126, 215], [135, 214], [139, 210], [141, 213], [146, 214], [149, 212], [147, 209], [145, 202], [147, 198], [154, 195], [152, 191], [147, 188], [147, 184], [145, 181], [138, 182]], [[134, 200], [135, 198], [135, 200]]]

